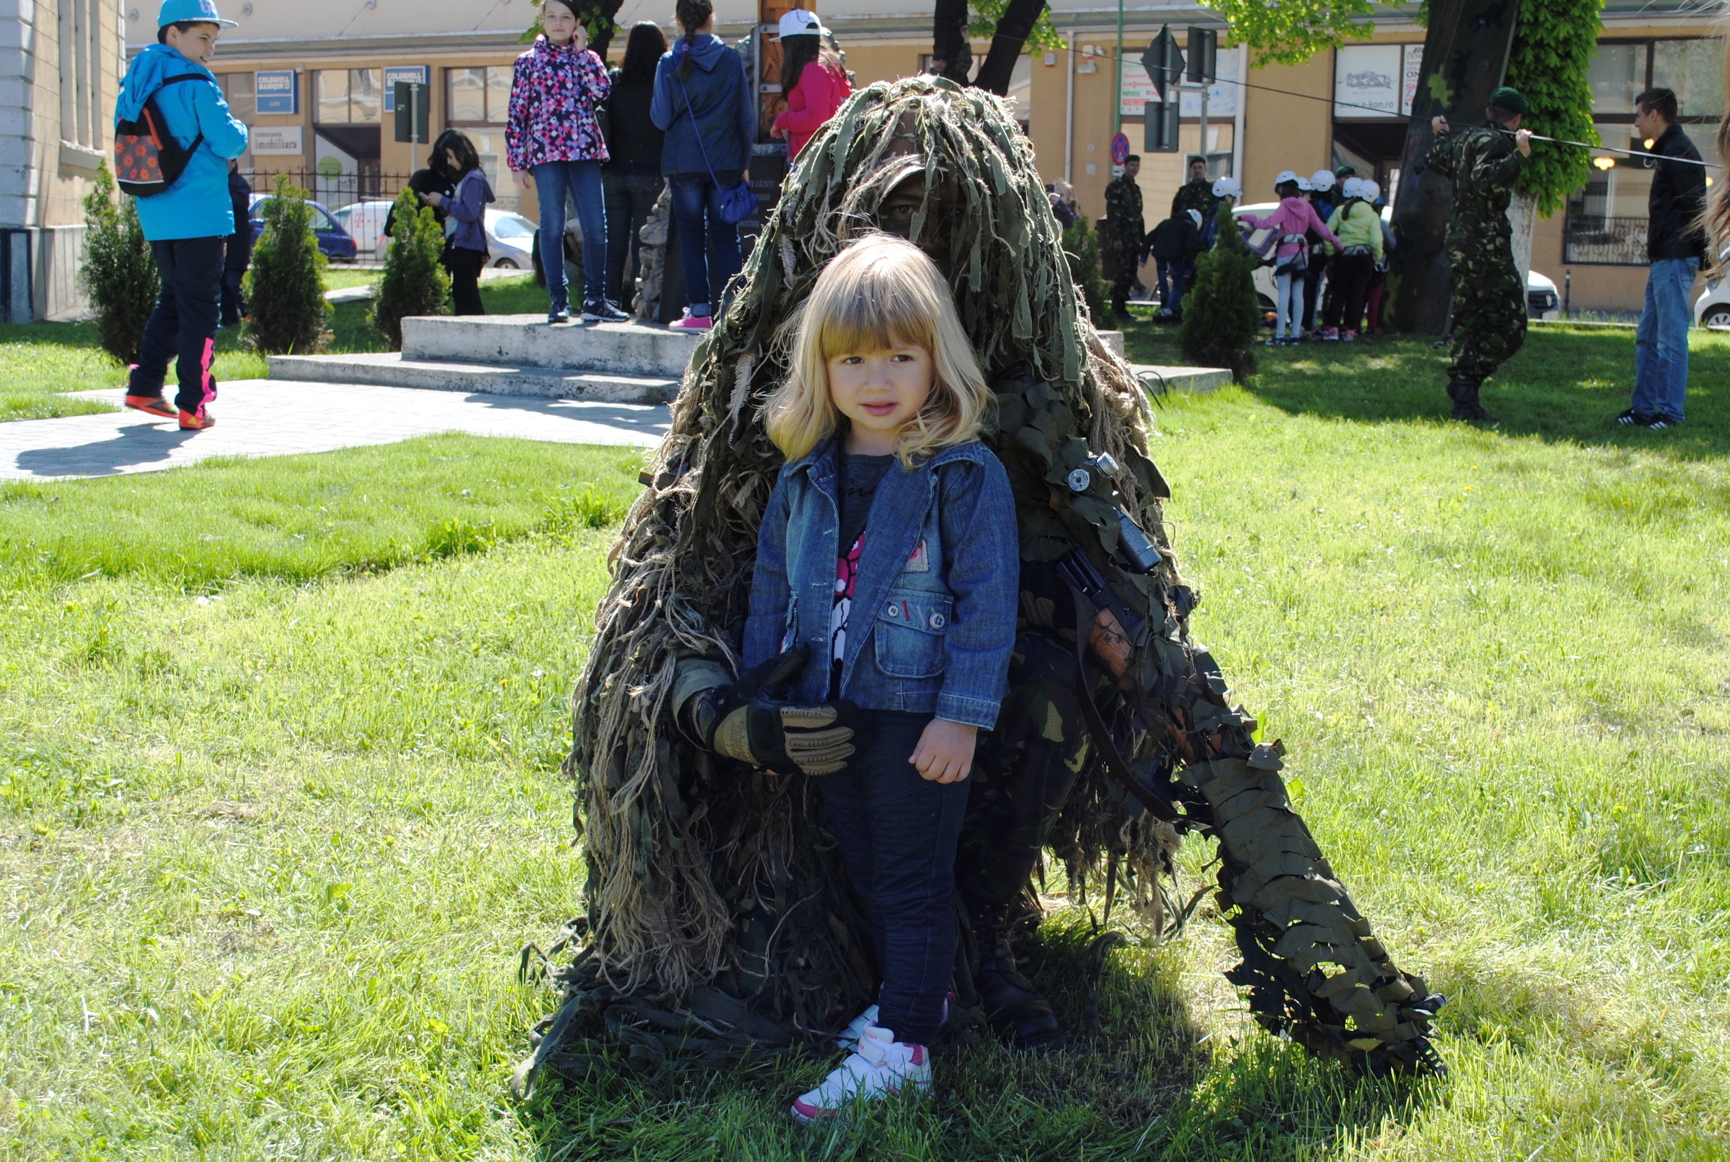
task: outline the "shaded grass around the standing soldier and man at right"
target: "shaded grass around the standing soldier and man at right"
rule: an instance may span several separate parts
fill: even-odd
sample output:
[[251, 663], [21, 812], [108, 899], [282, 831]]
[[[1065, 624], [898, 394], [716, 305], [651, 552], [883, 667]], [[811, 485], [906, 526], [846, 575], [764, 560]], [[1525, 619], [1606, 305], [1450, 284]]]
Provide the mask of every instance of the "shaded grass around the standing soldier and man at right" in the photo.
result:
[[[1180, 358], [1175, 332], [1131, 323], [1135, 360]], [[1656, 451], [1678, 460], [1730, 455], [1730, 335], [1692, 332], [1688, 420], [1649, 432], [1612, 424], [1633, 393], [1633, 330], [1624, 327], [1533, 327], [1526, 346], [1483, 389], [1502, 417], [1498, 436], [1547, 443]], [[1244, 384], [1258, 399], [1292, 415], [1358, 424], [1445, 422], [1448, 353], [1432, 337], [1374, 337], [1263, 348]]]

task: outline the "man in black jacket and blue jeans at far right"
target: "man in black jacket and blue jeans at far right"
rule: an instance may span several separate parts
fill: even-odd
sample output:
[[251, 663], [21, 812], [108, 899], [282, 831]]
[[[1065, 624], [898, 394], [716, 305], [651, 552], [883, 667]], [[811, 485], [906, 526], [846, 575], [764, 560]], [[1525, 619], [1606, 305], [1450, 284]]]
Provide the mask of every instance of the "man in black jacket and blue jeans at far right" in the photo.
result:
[[[1676, 93], [1649, 88], [1635, 99], [1633, 128], [1659, 161], [1647, 197], [1645, 308], [1633, 337], [1633, 399], [1616, 417], [1624, 427], [1663, 431], [1682, 424], [1688, 394], [1688, 290], [1706, 254], [1706, 166], [1676, 124]], [[1666, 161], [1675, 157], [1675, 161]]]

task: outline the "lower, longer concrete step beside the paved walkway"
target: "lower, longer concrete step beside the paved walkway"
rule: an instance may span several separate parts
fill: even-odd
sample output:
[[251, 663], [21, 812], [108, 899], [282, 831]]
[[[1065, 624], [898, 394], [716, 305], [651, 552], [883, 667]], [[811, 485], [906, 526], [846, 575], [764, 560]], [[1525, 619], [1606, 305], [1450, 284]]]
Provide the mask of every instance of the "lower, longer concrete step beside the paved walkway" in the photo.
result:
[[[541, 323], [545, 327], [545, 322]], [[678, 379], [623, 375], [561, 367], [503, 367], [457, 360], [410, 360], [394, 351], [368, 354], [272, 354], [270, 377], [315, 384], [431, 387], [493, 396], [543, 396], [595, 403], [668, 403]]]

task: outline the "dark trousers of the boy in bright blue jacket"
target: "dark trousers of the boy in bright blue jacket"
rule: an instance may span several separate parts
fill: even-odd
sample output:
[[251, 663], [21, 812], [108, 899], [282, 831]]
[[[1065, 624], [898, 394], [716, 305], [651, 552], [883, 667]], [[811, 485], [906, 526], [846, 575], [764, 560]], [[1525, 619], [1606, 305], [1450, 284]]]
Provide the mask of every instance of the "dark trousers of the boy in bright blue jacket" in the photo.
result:
[[216, 323], [221, 320], [223, 244], [227, 239], [168, 239], [151, 244], [163, 290], [144, 325], [138, 361], [126, 377], [133, 396], [163, 394], [168, 363], [175, 360], [180, 393], [175, 406], [197, 413], [216, 398], [211, 363], [216, 360]]

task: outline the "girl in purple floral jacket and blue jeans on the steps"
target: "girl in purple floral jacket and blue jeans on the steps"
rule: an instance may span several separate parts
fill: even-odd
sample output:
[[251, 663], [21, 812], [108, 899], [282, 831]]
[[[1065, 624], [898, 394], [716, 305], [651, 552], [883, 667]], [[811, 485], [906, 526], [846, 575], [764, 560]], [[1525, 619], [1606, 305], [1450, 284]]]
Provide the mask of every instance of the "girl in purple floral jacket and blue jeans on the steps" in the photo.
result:
[[564, 199], [576, 202], [583, 227], [585, 322], [626, 322], [607, 303], [607, 213], [600, 187], [600, 163], [607, 142], [595, 121], [595, 109], [612, 92], [607, 69], [588, 48], [588, 33], [564, 0], [545, 0], [535, 47], [517, 57], [510, 83], [510, 121], [505, 154], [517, 185], [528, 188], [535, 175], [540, 197], [541, 265], [547, 270], [548, 323], [571, 318], [564, 278]]

